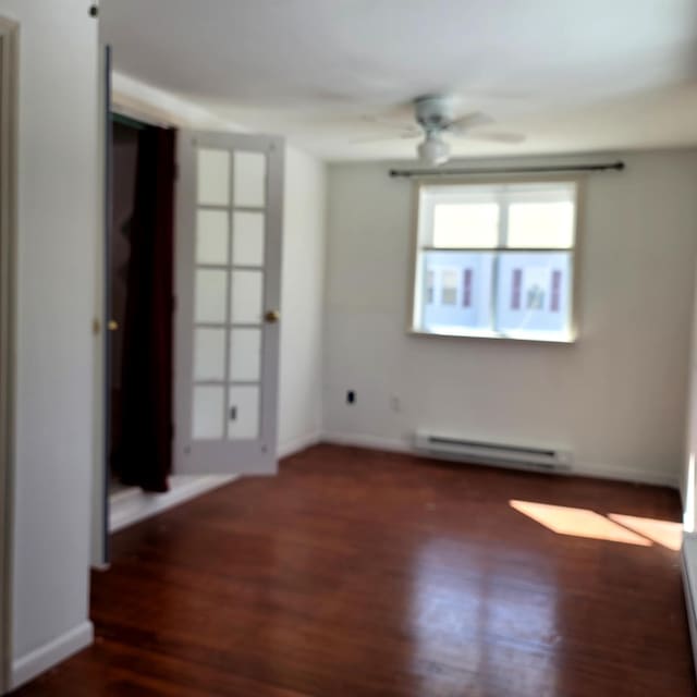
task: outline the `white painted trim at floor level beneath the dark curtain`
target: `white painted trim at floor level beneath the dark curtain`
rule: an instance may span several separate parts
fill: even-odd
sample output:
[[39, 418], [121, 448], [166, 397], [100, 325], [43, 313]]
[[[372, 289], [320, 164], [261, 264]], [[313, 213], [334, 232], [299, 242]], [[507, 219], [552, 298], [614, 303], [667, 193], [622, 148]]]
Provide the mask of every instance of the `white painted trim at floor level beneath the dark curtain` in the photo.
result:
[[119, 491], [109, 498], [109, 531], [118, 533], [129, 525], [173, 509], [236, 478], [236, 475], [175, 475], [170, 477], [170, 490], [166, 493], [145, 493], [135, 487]]

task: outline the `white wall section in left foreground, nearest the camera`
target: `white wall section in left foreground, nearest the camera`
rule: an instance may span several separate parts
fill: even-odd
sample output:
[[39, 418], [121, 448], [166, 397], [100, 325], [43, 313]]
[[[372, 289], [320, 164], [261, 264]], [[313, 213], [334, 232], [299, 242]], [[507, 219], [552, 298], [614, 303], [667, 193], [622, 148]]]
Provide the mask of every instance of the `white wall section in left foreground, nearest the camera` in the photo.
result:
[[91, 639], [97, 22], [83, 0], [0, 0], [19, 20], [14, 681]]

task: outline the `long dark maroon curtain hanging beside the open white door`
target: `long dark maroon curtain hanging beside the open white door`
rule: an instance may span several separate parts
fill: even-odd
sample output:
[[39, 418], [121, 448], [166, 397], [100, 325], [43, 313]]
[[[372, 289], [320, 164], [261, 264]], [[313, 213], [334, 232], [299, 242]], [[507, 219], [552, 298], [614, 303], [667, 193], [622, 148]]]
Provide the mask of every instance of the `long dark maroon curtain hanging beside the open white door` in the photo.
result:
[[175, 132], [138, 135], [122, 372], [123, 484], [167, 491], [172, 461], [172, 298]]

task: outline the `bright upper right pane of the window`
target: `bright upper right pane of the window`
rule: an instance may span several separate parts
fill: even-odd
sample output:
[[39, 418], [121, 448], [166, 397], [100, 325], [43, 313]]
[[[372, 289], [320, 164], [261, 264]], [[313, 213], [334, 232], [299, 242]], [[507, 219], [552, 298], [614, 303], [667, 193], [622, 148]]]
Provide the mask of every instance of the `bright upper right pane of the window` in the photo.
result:
[[509, 207], [509, 247], [572, 247], [574, 204], [523, 203]]

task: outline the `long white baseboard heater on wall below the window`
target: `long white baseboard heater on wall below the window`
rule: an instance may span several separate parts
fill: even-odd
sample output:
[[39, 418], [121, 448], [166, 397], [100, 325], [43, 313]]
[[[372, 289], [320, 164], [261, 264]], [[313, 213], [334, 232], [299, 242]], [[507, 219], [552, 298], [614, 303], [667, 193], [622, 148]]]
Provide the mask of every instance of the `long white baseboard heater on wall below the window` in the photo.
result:
[[416, 433], [415, 448], [433, 457], [538, 472], [568, 472], [572, 465], [572, 454], [567, 450], [493, 443], [423, 431]]

